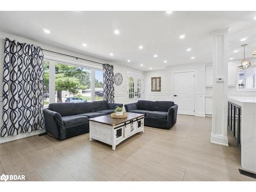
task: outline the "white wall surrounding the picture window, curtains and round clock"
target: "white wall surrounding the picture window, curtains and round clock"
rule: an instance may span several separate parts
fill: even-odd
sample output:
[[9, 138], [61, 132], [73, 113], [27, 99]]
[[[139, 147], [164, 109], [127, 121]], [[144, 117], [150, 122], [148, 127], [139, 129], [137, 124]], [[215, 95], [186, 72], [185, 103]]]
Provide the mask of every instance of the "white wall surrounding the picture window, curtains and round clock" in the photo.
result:
[[[123, 83], [121, 84], [121, 86], [116, 86], [116, 84], [115, 84], [115, 102], [117, 102], [117, 103], [126, 103], [126, 72], [132, 72], [132, 73], [143, 75], [143, 72], [140, 71], [140, 70], [135, 70], [135, 69], [132, 69], [132, 68], [129, 68], [129, 67], [121, 66], [121, 65], [118, 65], [118, 63], [102, 60], [102, 59], [99, 59], [99, 58], [96, 58], [96, 57], [91, 57], [91, 56], [88, 56], [88, 55], [72, 52], [72, 51], [65, 50], [65, 49], [60, 49], [60, 48], [57, 48], [57, 47], [42, 44], [41, 42], [33, 41], [33, 40], [30, 40], [30, 39], [27, 39], [27, 38], [11, 35], [11, 34], [4, 33], [4, 32], [0, 31], [0, 82], [1, 82], [0, 83], [0, 119], [1, 119], [0, 126], [2, 126], [2, 124], [3, 124], [3, 122], [2, 122], [2, 110], [3, 110], [2, 109], [3, 108], [2, 90], [3, 90], [3, 83], [2, 82], [3, 82], [3, 63], [4, 63], [4, 42], [5, 42], [6, 37], [11, 39], [11, 40], [15, 39], [19, 42], [27, 42], [28, 44], [34, 44], [34, 45], [40, 46], [42, 49], [47, 49], [47, 50], [51, 50], [51, 51], [55, 51], [55, 52], [60, 52], [60, 53], [68, 54], [68, 55], [73, 55], [73, 56], [76, 56], [76, 57], [81, 57], [81, 58], [85, 58], [85, 59], [94, 60], [94, 61], [101, 62], [101, 63], [110, 63], [110, 64], [114, 65], [114, 73], [119, 72], [123, 75]], [[97, 64], [90, 63], [90, 65], [97, 65]], [[34, 132], [34, 133], [38, 134], [38, 132]], [[31, 136], [31, 133], [30, 134], [19, 134], [19, 136], [16, 136], [16, 137], [0, 138], [0, 143], [1, 142], [6, 142], [8, 140], [14, 140], [15, 138], [23, 138], [23, 137], [26, 137], [26, 136]]]

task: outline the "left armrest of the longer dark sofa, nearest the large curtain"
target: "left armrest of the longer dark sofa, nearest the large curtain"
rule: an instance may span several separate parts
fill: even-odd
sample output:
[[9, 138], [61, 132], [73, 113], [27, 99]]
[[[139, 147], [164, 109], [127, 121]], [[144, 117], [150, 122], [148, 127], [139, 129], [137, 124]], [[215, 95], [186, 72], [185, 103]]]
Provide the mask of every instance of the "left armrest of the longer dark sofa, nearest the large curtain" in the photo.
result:
[[45, 118], [46, 133], [58, 138], [64, 124], [61, 115], [49, 109], [42, 110]]

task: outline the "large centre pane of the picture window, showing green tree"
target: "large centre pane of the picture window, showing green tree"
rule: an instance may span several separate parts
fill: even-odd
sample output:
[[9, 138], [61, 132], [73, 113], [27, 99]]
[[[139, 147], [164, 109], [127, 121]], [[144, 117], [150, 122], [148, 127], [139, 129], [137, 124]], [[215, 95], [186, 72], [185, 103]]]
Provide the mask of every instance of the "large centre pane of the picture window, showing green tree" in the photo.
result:
[[[91, 101], [91, 70], [68, 64], [55, 64], [55, 102]], [[68, 101], [71, 102], [71, 101]]]

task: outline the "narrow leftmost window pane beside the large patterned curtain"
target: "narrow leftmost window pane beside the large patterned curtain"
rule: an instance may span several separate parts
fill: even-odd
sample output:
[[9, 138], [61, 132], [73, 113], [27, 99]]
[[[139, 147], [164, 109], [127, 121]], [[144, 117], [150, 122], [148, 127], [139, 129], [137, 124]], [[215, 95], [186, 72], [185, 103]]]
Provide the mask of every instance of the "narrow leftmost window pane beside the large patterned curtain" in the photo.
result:
[[44, 108], [49, 105], [49, 61], [44, 61]]

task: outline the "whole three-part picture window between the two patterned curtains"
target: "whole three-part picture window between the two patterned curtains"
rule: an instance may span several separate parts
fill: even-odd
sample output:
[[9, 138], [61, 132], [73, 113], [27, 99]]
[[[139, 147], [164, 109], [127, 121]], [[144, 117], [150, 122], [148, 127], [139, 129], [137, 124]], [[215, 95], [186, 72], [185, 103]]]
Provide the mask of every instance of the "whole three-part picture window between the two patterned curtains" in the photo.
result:
[[44, 60], [45, 108], [51, 102], [103, 100], [103, 71], [79, 66], [77, 62], [70, 62]]

